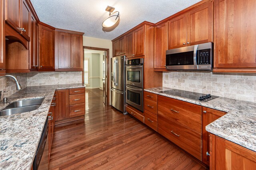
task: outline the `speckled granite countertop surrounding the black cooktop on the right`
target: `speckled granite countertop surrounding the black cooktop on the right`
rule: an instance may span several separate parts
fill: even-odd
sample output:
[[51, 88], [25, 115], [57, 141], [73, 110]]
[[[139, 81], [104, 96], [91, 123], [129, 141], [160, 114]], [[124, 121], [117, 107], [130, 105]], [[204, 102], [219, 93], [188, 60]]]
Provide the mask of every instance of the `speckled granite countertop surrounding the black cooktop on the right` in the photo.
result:
[[256, 103], [223, 97], [200, 102], [160, 93], [171, 89], [173, 88], [157, 87], [144, 91], [227, 112], [207, 125], [206, 131], [256, 152]]

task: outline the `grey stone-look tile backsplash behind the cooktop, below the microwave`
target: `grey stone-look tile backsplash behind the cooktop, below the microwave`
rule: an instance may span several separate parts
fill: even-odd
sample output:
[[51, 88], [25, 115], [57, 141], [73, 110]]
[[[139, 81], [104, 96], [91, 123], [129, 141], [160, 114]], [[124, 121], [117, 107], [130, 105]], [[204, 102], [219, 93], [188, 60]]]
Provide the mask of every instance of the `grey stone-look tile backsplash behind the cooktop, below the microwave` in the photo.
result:
[[164, 72], [163, 86], [256, 102], [256, 74], [254, 73]]

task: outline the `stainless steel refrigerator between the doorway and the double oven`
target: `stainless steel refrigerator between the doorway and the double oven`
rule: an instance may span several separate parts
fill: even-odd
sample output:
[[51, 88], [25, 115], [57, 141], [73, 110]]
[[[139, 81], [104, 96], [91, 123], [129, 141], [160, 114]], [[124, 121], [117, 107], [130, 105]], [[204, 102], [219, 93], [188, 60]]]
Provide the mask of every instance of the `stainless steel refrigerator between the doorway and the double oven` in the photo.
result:
[[125, 112], [125, 56], [111, 59], [111, 105]]

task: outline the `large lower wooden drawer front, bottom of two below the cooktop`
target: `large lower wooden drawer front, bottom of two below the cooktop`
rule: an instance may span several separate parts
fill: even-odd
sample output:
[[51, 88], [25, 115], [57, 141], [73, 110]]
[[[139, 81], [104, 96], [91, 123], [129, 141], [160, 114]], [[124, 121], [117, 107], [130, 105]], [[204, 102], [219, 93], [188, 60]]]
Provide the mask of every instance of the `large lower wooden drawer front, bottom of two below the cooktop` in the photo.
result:
[[158, 115], [158, 133], [202, 161], [202, 135]]

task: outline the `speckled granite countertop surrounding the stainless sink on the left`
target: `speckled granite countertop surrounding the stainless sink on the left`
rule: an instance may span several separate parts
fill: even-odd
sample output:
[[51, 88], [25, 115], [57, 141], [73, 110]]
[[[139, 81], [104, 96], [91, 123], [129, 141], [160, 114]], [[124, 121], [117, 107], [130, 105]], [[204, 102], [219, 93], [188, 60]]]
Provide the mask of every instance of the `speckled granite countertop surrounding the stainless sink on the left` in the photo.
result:
[[[44, 101], [34, 111], [0, 117], [0, 169], [31, 169], [55, 90], [81, 87], [85, 86], [32, 86], [8, 97], [10, 103], [32, 98], [44, 98]], [[0, 109], [7, 105], [0, 103]]]

